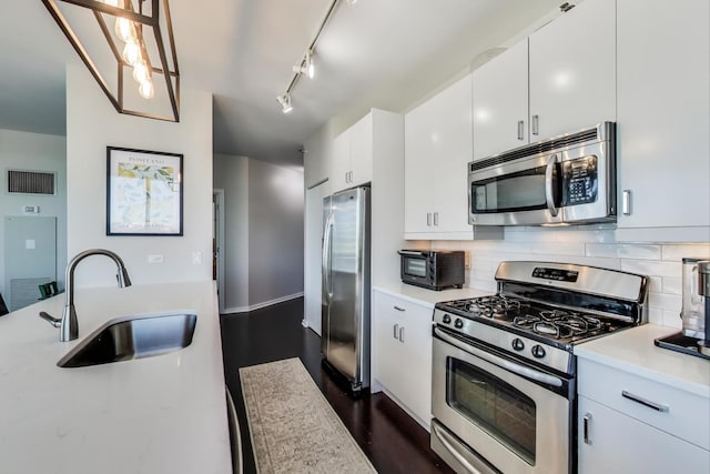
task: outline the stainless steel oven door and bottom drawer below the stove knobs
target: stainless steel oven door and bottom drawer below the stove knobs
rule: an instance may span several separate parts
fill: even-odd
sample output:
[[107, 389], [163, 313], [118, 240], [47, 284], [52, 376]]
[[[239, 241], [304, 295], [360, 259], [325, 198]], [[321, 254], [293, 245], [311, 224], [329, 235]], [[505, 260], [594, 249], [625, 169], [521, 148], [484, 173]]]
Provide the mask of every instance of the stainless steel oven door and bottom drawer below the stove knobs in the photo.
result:
[[443, 458], [459, 472], [570, 472], [574, 380], [438, 327], [433, 354], [432, 445]]

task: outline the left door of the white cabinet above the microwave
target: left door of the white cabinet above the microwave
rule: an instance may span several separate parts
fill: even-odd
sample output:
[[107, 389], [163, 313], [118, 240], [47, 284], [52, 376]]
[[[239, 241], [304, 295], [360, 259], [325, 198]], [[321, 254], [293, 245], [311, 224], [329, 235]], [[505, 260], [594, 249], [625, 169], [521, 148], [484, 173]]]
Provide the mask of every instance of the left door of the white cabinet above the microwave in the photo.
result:
[[474, 71], [474, 160], [528, 143], [527, 38]]

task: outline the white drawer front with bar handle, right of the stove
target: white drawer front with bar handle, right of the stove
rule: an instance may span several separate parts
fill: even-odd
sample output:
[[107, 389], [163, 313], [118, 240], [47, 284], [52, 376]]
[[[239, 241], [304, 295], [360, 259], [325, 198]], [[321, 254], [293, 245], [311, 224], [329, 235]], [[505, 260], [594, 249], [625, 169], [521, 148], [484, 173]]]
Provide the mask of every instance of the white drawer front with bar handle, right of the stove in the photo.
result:
[[577, 364], [579, 395], [710, 450], [707, 397], [586, 359]]

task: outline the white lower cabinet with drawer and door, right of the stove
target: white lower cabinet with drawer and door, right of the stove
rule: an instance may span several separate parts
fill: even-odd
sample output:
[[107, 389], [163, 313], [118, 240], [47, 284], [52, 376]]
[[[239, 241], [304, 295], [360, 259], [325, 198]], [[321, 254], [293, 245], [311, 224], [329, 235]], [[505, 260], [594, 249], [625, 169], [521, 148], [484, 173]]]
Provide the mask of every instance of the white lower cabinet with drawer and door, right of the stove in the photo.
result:
[[710, 472], [707, 397], [581, 357], [578, 381], [579, 474]]

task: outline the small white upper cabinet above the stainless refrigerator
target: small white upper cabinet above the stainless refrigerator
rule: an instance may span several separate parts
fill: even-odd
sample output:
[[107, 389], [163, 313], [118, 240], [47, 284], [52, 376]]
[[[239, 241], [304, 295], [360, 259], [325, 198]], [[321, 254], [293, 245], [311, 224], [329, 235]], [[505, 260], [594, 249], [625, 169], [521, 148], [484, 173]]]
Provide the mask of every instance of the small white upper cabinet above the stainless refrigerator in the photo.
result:
[[371, 182], [373, 179], [373, 114], [335, 138], [331, 180], [333, 192]]

